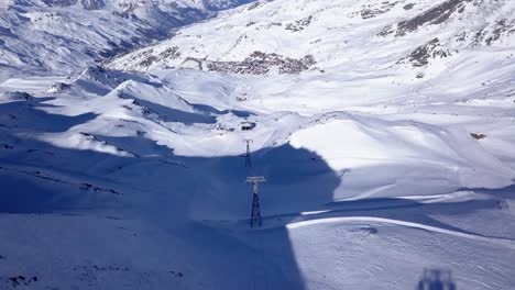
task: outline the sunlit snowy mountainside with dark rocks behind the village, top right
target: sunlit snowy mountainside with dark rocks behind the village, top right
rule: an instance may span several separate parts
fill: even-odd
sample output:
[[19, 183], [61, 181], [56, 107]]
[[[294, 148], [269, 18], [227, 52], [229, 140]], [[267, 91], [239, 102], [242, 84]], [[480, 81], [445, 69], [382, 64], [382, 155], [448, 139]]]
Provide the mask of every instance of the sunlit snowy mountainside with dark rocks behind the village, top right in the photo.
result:
[[263, 1], [182, 30], [112, 67], [180, 67], [194, 58], [202, 69], [230, 72], [264, 74], [278, 67], [285, 72], [392, 74], [413, 66], [423, 77], [470, 51], [513, 46], [514, 15], [513, 1]]

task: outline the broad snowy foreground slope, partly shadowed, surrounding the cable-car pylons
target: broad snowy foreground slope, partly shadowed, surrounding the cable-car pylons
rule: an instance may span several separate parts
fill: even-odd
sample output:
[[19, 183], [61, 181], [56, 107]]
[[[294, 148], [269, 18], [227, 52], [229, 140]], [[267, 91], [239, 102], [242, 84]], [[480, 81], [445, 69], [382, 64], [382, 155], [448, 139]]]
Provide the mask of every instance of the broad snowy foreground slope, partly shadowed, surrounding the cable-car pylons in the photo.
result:
[[[302, 115], [234, 99], [260, 81], [91, 67], [3, 82], [2, 286], [515, 285], [513, 100]], [[267, 178], [258, 231], [248, 175]]]

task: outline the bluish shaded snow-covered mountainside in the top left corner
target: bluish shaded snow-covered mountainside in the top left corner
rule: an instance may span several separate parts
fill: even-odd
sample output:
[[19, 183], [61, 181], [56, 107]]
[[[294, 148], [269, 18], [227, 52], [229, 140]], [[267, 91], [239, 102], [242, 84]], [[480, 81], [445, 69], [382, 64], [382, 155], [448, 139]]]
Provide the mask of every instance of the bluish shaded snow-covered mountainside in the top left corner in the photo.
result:
[[7, 0], [0, 2], [0, 67], [76, 72], [163, 38], [171, 30], [245, 1]]

